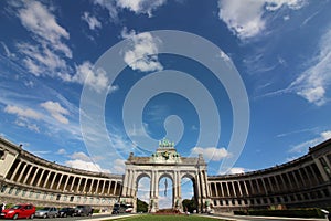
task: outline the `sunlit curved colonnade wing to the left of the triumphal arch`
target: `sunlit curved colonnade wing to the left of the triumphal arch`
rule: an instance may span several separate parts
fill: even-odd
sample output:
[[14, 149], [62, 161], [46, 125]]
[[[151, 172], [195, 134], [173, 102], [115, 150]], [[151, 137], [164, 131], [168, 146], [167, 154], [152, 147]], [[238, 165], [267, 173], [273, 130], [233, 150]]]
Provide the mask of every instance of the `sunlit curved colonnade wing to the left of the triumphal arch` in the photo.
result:
[[46, 161], [0, 138], [0, 200], [38, 206], [90, 204], [108, 209], [119, 200], [122, 176], [90, 172]]

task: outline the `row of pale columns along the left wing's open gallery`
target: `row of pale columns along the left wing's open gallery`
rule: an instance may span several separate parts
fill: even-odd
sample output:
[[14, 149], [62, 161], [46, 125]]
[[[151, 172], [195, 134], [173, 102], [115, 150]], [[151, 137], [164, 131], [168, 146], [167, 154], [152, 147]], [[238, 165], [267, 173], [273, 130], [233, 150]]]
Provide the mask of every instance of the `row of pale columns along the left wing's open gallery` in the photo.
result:
[[121, 190], [121, 176], [111, 180], [111, 178], [74, 175], [20, 159], [14, 161], [6, 179], [25, 186], [78, 194], [119, 196]]

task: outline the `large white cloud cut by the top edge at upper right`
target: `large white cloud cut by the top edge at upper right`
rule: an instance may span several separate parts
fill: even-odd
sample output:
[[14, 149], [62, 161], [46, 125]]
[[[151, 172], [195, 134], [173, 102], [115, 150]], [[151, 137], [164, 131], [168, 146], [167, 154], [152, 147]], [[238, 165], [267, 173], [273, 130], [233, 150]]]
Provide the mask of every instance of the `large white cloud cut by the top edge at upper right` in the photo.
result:
[[218, 17], [239, 39], [247, 39], [265, 30], [266, 11], [276, 11], [284, 6], [297, 10], [305, 4], [305, 0], [220, 0]]

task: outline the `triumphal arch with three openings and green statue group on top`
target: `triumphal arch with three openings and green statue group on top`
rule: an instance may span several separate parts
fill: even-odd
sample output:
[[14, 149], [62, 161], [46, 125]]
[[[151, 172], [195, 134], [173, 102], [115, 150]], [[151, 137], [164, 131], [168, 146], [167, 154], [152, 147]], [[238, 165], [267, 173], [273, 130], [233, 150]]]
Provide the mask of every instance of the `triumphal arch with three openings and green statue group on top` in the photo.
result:
[[182, 157], [175, 150], [174, 144], [167, 139], [150, 157], [136, 157], [131, 152], [126, 161], [121, 201], [132, 203], [136, 210], [139, 180], [150, 178], [150, 212], [159, 210], [159, 182], [162, 178], [172, 180], [172, 208], [182, 211], [181, 180], [192, 180], [194, 199], [200, 211], [209, 206], [210, 191], [207, 186], [207, 165], [202, 155], [199, 157]]

